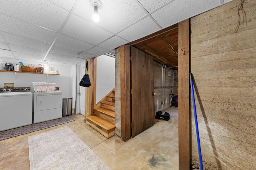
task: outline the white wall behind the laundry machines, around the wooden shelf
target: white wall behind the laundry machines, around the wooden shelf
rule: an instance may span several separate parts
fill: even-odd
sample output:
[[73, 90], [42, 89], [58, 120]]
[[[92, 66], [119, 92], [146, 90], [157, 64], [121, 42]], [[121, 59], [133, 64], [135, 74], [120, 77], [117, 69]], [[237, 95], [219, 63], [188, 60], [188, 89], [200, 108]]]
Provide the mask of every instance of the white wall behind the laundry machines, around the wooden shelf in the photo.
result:
[[[4, 63], [18, 64], [19, 60], [0, 58], [0, 70], [4, 70]], [[22, 61], [23, 64], [33, 64], [38, 66], [38, 63], [31, 61]], [[49, 82], [56, 83], [59, 86], [60, 91], [63, 92], [63, 98], [72, 97], [72, 82], [71, 67], [50, 65], [55, 70], [59, 70], [60, 75], [50, 75], [46, 80], [46, 74], [29, 74], [29, 73], [17, 73], [16, 78], [14, 72], [0, 72], [0, 86], [3, 87], [4, 83], [14, 83], [14, 87], [31, 87], [32, 82]]]

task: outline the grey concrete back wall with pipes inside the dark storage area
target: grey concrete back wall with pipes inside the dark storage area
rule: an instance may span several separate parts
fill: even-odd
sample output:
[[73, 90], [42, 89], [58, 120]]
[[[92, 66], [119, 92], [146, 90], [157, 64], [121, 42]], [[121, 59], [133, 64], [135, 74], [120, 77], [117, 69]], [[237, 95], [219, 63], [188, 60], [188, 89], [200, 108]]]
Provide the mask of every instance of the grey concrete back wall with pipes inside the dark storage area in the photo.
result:
[[[178, 95], [178, 71], [166, 67], [165, 72], [163, 70], [163, 87], [162, 87], [162, 64], [153, 62], [153, 74], [154, 74], [154, 96], [155, 100], [155, 113], [157, 111], [164, 111], [170, 107], [170, 94]], [[171, 76], [168, 76], [170, 72]], [[165, 74], [165, 95], [164, 95], [164, 74]], [[162, 104], [162, 101], [164, 104]], [[177, 108], [178, 109], [178, 108]]]

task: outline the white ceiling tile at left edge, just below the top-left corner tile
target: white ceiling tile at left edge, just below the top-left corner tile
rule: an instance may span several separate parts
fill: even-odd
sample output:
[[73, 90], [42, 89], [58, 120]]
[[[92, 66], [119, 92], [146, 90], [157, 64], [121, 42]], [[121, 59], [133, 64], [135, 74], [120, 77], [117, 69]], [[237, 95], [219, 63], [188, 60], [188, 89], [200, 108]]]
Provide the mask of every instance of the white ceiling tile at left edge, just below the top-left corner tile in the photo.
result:
[[52, 43], [57, 35], [56, 32], [8, 16], [4, 16], [2, 14], [0, 14], [0, 23], [0, 29], [4, 32], [36, 39], [46, 43]]

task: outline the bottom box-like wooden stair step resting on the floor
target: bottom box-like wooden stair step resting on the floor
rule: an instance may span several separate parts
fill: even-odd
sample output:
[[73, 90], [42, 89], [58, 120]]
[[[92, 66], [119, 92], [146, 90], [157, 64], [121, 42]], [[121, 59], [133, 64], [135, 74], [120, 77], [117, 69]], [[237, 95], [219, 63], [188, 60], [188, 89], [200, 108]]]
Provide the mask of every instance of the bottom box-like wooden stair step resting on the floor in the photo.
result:
[[115, 124], [107, 121], [96, 115], [88, 115], [86, 118], [86, 124], [104, 135], [106, 138], [110, 138], [115, 135]]

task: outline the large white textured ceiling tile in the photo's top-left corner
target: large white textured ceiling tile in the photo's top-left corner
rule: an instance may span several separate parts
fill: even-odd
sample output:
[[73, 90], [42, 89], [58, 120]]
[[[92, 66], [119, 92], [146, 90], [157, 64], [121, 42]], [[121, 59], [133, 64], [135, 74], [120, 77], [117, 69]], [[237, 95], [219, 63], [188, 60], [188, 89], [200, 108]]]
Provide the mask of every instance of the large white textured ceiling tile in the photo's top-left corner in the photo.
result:
[[0, 11], [2, 14], [54, 31], [59, 31], [69, 13], [46, 0], [6, 0], [1, 3]]

